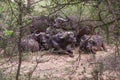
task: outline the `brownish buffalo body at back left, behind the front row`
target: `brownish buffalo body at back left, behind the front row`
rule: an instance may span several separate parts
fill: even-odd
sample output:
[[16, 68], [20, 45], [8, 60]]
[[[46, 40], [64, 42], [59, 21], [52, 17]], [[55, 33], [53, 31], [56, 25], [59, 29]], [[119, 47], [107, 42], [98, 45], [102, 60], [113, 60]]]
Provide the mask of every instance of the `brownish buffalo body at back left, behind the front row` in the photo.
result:
[[48, 16], [38, 16], [32, 19], [32, 25], [30, 26], [31, 33], [45, 32], [50, 26], [53, 26], [54, 18]]

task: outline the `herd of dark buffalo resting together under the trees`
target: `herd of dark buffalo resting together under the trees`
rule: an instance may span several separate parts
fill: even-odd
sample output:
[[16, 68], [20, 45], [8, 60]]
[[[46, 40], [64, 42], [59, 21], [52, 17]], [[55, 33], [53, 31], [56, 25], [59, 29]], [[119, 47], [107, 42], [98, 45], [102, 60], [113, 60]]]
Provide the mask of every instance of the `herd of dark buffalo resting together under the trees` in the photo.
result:
[[40, 16], [32, 19], [30, 34], [21, 39], [21, 51], [43, 51], [52, 49], [54, 53], [74, 57], [73, 49], [79, 52], [96, 53], [106, 50], [100, 35], [91, 35], [89, 26], [81, 27], [79, 22], [70, 18]]

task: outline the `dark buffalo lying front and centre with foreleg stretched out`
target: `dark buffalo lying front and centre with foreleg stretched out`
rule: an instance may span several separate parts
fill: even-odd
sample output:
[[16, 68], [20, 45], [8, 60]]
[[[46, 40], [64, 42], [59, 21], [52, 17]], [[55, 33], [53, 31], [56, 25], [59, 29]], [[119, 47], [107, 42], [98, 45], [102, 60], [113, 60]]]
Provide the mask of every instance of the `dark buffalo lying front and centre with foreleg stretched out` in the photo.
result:
[[74, 45], [76, 43], [75, 35], [72, 31], [58, 32], [51, 37], [51, 45], [55, 51], [59, 53], [66, 53], [70, 57], [74, 57], [72, 49], [68, 48], [68, 45]]

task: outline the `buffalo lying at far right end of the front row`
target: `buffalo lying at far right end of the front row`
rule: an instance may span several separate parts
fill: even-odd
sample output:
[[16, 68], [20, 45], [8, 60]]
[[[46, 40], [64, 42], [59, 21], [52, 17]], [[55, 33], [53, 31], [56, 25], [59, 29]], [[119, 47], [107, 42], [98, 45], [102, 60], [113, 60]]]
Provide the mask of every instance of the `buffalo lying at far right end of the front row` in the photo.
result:
[[105, 50], [103, 39], [99, 35], [84, 35], [80, 39], [79, 50], [86, 50], [88, 52], [96, 53], [96, 51]]

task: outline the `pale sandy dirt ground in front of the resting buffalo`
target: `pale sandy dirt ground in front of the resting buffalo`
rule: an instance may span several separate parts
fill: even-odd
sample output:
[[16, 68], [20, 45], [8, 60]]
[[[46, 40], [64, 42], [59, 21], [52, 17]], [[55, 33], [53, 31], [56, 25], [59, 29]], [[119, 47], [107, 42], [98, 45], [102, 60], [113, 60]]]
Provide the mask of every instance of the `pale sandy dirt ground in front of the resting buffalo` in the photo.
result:
[[[79, 55], [75, 49], [74, 58], [49, 52], [45, 55], [41, 55], [45, 52], [29, 53], [30, 56], [23, 57], [21, 75], [32, 74], [32, 77], [39, 77], [40, 80], [96, 80], [94, 76], [99, 76], [100, 80], [120, 80], [120, 56], [114, 55], [114, 49], [113, 46], [107, 46], [108, 52], [98, 51], [95, 55]], [[8, 58], [0, 63], [5, 60]], [[5, 73], [15, 72], [17, 63], [17, 58], [14, 58], [2, 64], [0, 69], [4, 68]]]

